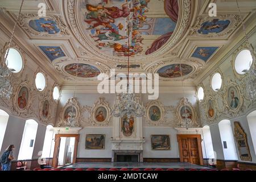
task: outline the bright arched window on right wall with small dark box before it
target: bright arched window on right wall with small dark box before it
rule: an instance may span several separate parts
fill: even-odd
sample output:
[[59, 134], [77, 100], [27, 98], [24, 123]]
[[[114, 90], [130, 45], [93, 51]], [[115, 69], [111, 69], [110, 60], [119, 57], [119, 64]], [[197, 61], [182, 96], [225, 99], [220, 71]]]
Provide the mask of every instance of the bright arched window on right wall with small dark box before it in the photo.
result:
[[228, 119], [222, 120], [218, 123], [218, 129], [220, 130], [225, 160], [238, 160], [230, 121]]

